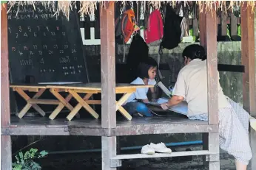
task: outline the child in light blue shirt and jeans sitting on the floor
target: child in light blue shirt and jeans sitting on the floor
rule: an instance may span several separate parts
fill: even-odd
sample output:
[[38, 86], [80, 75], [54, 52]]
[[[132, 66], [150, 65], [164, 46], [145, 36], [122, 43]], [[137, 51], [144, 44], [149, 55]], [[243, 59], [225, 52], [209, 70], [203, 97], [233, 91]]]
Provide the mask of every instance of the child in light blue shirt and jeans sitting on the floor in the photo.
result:
[[[146, 61], [141, 62], [138, 66], [138, 77], [131, 82], [132, 85], [155, 85], [155, 76], [158, 69], [158, 63], [152, 57], [148, 57]], [[149, 88], [138, 88], [135, 93], [132, 93], [124, 105], [124, 108], [132, 116], [138, 113], [139, 116], [152, 116], [149, 108], [144, 104], [149, 102], [147, 93]], [[150, 88], [153, 98], [155, 97], [155, 89]]]

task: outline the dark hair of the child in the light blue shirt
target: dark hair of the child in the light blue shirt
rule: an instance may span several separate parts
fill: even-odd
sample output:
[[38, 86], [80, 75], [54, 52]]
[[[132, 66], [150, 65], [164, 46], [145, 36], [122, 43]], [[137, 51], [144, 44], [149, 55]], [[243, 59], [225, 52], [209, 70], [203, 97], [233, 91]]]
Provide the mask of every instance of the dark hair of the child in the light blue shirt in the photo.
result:
[[138, 65], [138, 77], [141, 79], [149, 78], [148, 71], [151, 67], [158, 68], [158, 63], [152, 57], [147, 57], [145, 60], [141, 61]]

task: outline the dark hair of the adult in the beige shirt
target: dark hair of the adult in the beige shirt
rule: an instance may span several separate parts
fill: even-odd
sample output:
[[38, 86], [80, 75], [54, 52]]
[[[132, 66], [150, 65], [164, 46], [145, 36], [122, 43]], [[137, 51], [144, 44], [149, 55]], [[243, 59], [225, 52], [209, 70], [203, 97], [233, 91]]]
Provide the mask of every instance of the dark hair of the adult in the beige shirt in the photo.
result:
[[192, 44], [189, 46], [186, 46], [186, 48], [182, 52], [182, 57], [188, 57], [191, 60], [194, 59], [201, 59], [206, 60], [206, 52], [203, 48], [203, 46], [200, 46], [198, 44]]

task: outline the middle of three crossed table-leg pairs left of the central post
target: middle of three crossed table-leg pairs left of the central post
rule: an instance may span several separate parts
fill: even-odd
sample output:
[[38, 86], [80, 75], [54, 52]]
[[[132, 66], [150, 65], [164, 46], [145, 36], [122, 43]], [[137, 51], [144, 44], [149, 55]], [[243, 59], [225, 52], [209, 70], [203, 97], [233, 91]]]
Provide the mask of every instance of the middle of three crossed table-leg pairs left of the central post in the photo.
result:
[[[49, 118], [51, 120], [53, 120], [57, 115], [58, 113], [61, 112], [61, 110], [64, 108], [64, 107], [67, 107], [70, 111], [72, 111], [74, 109], [74, 107], [72, 105], [70, 105], [70, 99], [72, 99], [72, 95], [69, 94], [65, 99], [63, 96], [61, 96], [60, 93], [58, 93], [58, 91], [55, 89], [55, 88], [51, 88], [50, 89], [50, 93], [53, 94], [53, 96], [55, 96], [55, 98], [58, 99], [58, 101], [60, 102], [58, 107], [55, 108], [55, 110], [53, 111], [53, 113], [50, 114]], [[78, 118], [80, 117], [79, 113], [76, 115]]]

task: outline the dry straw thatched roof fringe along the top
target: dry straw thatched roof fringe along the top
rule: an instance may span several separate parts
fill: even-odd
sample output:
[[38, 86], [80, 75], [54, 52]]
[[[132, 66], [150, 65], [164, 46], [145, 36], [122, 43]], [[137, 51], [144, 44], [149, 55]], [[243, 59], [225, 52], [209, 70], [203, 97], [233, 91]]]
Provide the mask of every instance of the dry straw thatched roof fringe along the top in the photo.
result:
[[[113, 2], [113, 1], [112, 1]], [[115, 1], [121, 2], [121, 4], [126, 5], [128, 1]], [[36, 4], [42, 3], [44, 7], [50, 8], [55, 11], [55, 15], [63, 13], [64, 15], [69, 16], [70, 11], [73, 8], [78, 8], [81, 15], [94, 15], [95, 10], [97, 9], [97, 4], [104, 6], [104, 1], [8, 1], [8, 7], [10, 10], [15, 4], [18, 6], [33, 5], [36, 10]], [[160, 8], [161, 4], [169, 3], [172, 6], [177, 6], [182, 4], [183, 7], [192, 8], [192, 4], [197, 4], [199, 7], [199, 12], [202, 12], [203, 9], [212, 10], [213, 8], [219, 9], [222, 11], [233, 12], [233, 9], [239, 9], [242, 5], [251, 6], [252, 13], [254, 12], [255, 1], [137, 1], [142, 7], [146, 5], [152, 5], [152, 7]], [[79, 7], [77, 7], [79, 5]]]

